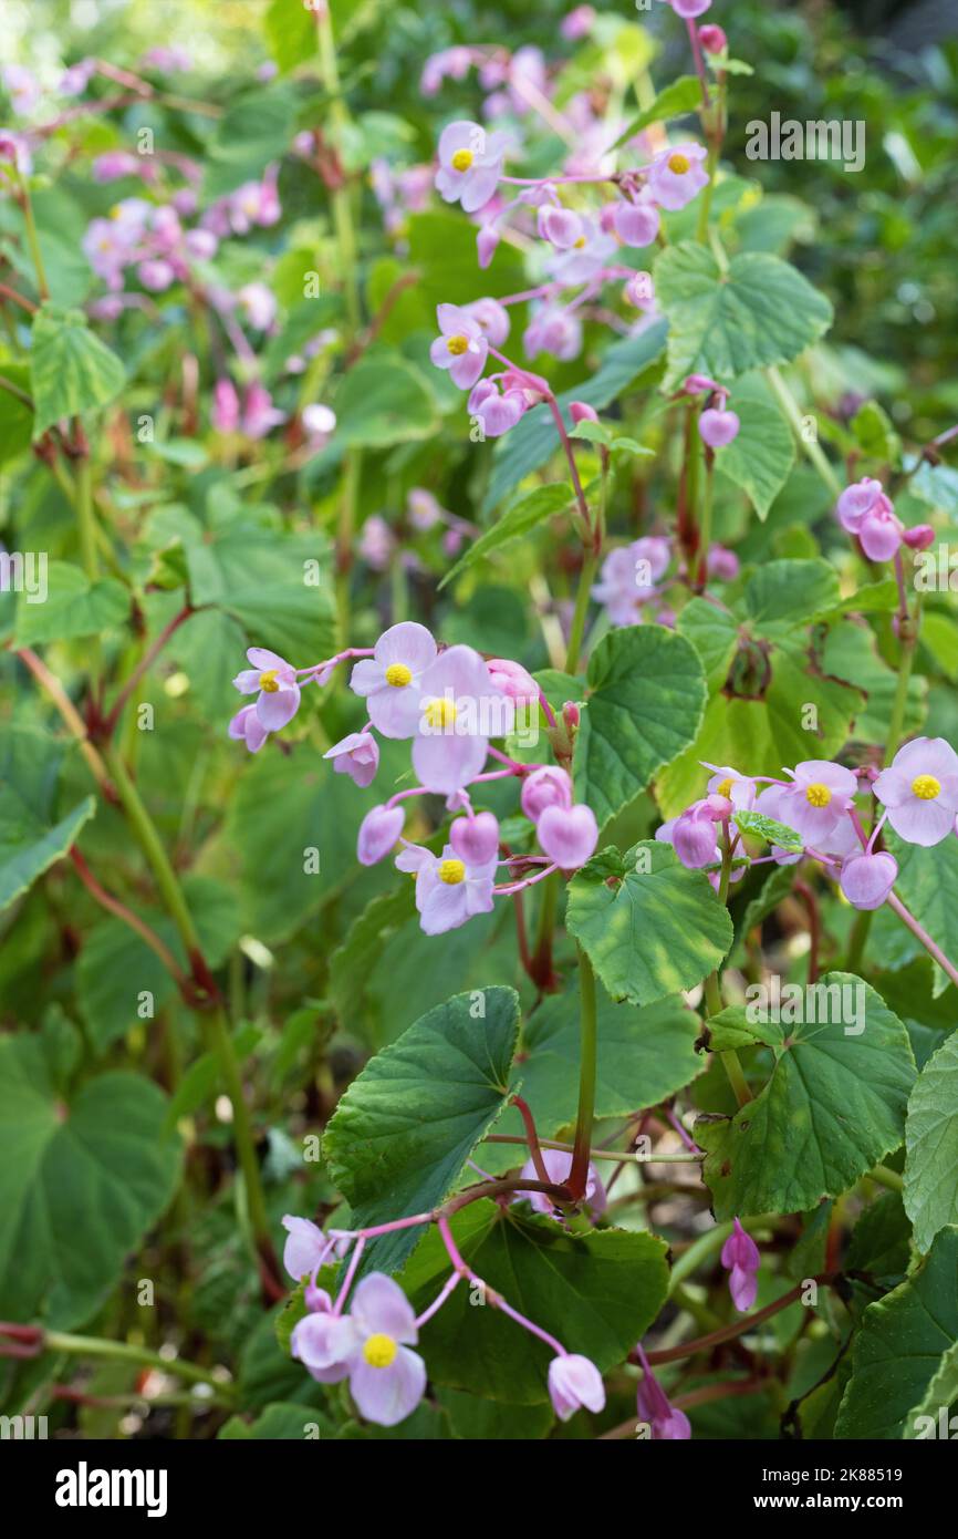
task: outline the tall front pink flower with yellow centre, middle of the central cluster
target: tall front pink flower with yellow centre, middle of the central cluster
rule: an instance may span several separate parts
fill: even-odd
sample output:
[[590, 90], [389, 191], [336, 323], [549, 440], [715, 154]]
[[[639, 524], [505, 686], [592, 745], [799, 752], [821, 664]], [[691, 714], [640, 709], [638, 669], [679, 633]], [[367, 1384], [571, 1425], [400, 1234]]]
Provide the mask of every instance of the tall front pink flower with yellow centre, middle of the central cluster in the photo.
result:
[[469, 785], [486, 763], [489, 737], [500, 717], [500, 691], [480, 654], [471, 646], [440, 653], [420, 680], [412, 745], [412, 768], [420, 783], [444, 796]]

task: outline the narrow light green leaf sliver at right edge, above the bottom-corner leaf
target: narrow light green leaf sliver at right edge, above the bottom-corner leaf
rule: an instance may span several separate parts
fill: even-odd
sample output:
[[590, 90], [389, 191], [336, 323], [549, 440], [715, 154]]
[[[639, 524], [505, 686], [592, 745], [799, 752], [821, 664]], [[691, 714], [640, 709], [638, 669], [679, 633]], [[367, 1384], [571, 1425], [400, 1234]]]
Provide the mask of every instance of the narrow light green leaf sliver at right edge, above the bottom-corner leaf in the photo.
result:
[[904, 1125], [904, 1207], [920, 1251], [958, 1224], [958, 1033], [921, 1070]]

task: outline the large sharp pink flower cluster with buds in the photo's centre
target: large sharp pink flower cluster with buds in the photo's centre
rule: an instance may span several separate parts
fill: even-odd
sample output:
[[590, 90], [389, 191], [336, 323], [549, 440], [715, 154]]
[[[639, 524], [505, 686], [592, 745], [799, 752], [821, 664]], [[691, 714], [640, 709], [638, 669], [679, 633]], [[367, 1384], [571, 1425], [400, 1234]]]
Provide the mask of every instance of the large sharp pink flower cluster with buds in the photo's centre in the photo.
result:
[[[401, 842], [395, 859], [400, 871], [415, 874], [415, 902], [426, 934], [443, 934], [475, 914], [489, 913], [497, 894], [514, 894], [543, 880], [552, 871], [575, 871], [595, 851], [598, 825], [584, 803], [575, 803], [572, 780], [558, 765], [526, 765], [491, 739], [507, 737], [538, 713], [551, 728], [555, 717], [535, 680], [511, 659], [483, 659], [471, 646], [440, 649], [426, 629], [412, 620], [392, 625], [372, 649], [351, 648], [309, 668], [294, 668], [266, 648], [252, 646], [251, 668], [234, 679], [240, 694], [257, 699], [229, 723], [229, 736], [251, 753], [271, 733], [286, 726], [300, 708], [301, 688], [315, 679], [326, 683], [344, 660], [355, 660], [351, 688], [366, 700], [368, 722], [324, 754], [338, 774], [369, 786], [380, 766], [377, 737], [411, 740], [417, 785], [397, 791], [374, 806], [360, 825], [357, 856], [363, 865], [383, 860]], [[566, 722], [575, 711], [564, 713]], [[487, 759], [497, 768], [486, 770]], [[500, 826], [492, 813], [477, 813], [469, 786], [517, 777], [521, 808], [535, 825], [541, 856], [500, 857]], [[432, 793], [446, 799], [454, 817], [441, 854], [403, 839], [403, 802]], [[498, 866], [518, 865], [527, 874], [497, 883]]]

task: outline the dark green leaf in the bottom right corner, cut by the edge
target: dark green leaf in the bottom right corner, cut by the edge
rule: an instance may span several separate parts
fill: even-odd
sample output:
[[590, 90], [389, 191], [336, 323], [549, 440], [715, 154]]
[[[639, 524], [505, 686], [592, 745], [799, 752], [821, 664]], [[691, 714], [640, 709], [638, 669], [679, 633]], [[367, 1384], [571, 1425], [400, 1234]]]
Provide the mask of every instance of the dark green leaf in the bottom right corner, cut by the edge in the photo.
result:
[[[918, 1270], [864, 1311], [835, 1436], [918, 1436], [916, 1416], [932, 1414], [936, 1419], [929, 1388], [953, 1354], [956, 1340], [958, 1230], [947, 1228]], [[946, 1410], [952, 1394], [949, 1387]]]

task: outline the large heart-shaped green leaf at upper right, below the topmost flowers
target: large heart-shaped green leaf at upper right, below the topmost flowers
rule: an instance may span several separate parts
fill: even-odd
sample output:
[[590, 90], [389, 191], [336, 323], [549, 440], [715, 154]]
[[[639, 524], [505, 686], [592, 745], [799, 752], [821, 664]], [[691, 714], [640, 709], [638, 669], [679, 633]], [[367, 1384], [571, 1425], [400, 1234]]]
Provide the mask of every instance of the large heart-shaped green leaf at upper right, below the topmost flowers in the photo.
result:
[[824, 294], [766, 252], [741, 252], [723, 272], [709, 246], [683, 240], [658, 255], [654, 277], [669, 320], [666, 391], [687, 374], [726, 385], [749, 369], [790, 363], [832, 323]]

